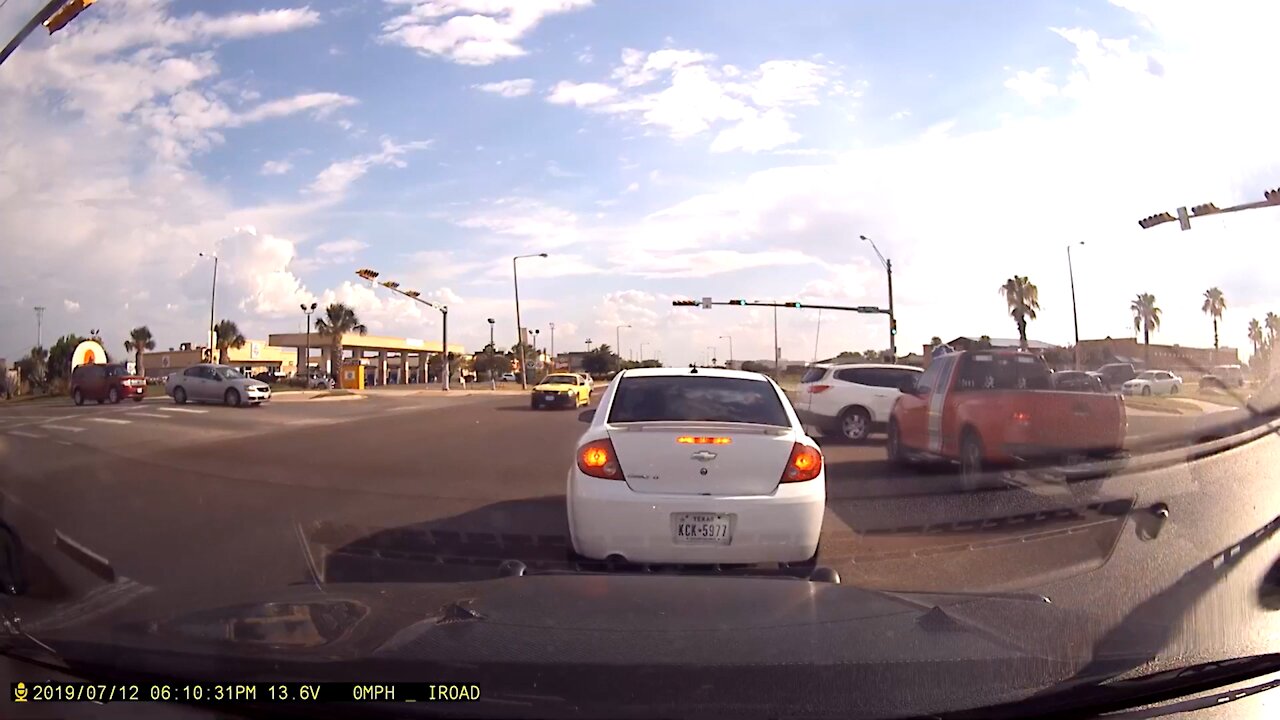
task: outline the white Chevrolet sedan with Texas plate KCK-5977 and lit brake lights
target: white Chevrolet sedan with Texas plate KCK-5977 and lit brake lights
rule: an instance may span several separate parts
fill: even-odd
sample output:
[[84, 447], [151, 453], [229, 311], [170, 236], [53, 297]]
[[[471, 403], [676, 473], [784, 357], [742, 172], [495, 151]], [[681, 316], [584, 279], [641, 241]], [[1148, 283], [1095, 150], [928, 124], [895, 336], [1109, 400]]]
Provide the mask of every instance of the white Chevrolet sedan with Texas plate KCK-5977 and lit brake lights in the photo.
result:
[[618, 373], [568, 470], [581, 556], [644, 564], [806, 564], [827, 479], [818, 445], [759, 373]]

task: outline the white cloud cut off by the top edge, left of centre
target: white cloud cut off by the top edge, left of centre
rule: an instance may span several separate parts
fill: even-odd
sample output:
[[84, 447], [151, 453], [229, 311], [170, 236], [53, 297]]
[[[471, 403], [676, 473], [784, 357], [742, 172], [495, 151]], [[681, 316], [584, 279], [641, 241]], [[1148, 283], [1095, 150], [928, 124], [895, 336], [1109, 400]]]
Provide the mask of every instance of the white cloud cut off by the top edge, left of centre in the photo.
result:
[[397, 14], [381, 40], [463, 65], [489, 65], [526, 53], [520, 40], [549, 15], [591, 0], [388, 0]]

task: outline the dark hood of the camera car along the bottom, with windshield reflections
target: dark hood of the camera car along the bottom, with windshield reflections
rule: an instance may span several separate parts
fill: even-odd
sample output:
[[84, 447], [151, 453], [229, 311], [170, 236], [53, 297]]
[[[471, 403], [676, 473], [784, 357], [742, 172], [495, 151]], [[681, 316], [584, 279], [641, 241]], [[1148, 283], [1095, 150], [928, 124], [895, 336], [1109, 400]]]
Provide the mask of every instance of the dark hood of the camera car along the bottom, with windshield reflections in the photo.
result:
[[[99, 682], [430, 679], [525, 702], [573, 698], [585, 716], [596, 716], [616, 706], [607, 688], [616, 691], [622, 674], [650, 708], [685, 707], [700, 694], [709, 706], [808, 702], [824, 715], [863, 717], [1025, 697], [1029, 674], [1051, 684], [1073, 669], [1060, 656], [1065, 643], [1044, 642], [1044, 629], [1066, 637], [1085, 623], [1034, 601], [904, 598], [799, 579], [605, 574], [307, 584], [207, 605], [155, 592], [110, 618], [61, 614], [63, 626], [58, 616], [54, 625], [24, 620], [63, 662]], [[922, 696], [924, 684], [943, 688], [942, 696]], [[748, 687], [771, 693], [746, 698], [740, 691]]]

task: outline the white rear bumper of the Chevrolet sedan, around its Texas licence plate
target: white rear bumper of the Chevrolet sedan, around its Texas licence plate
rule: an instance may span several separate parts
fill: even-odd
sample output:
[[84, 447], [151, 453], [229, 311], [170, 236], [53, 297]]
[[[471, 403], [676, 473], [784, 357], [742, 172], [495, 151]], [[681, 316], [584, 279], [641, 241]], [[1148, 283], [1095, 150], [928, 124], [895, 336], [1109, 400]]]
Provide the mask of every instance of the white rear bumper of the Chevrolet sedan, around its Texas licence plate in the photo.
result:
[[[573, 550], [630, 562], [801, 562], [818, 550], [827, 505], [826, 475], [783, 483], [768, 496], [650, 495], [625, 482], [570, 471], [568, 527]], [[673, 512], [732, 514], [730, 544], [677, 544]]]

